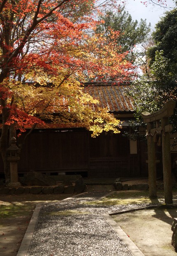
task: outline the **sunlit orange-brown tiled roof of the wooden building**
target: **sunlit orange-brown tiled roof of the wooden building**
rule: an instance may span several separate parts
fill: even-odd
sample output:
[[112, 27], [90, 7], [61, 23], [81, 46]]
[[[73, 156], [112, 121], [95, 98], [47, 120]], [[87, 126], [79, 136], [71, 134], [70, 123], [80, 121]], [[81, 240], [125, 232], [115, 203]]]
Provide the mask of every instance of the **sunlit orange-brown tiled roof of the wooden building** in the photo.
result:
[[107, 107], [110, 112], [114, 113], [135, 110], [134, 100], [126, 93], [129, 88], [129, 84], [84, 84], [84, 92], [89, 93], [94, 99], [97, 99], [100, 102], [99, 107]]

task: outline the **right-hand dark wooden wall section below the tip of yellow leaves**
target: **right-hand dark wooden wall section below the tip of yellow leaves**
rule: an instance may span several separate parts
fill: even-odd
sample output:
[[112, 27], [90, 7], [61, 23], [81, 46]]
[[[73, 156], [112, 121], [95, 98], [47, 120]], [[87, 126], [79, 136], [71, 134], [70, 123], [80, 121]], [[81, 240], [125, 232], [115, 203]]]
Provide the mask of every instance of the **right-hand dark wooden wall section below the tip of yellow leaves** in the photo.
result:
[[[137, 155], [130, 155], [130, 143], [122, 134], [107, 133], [90, 139], [89, 176], [126, 177], [139, 175]], [[132, 164], [135, 164], [134, 166]]]

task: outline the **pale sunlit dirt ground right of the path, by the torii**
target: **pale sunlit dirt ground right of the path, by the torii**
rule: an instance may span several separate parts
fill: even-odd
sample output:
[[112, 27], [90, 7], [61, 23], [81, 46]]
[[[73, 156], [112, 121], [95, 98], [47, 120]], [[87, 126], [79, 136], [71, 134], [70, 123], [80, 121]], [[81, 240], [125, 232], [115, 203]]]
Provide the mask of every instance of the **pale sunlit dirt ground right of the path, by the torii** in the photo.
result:
[[171, 245], [177, 209], [148, 209], [112, 217], [145, 256], [177, 256]]

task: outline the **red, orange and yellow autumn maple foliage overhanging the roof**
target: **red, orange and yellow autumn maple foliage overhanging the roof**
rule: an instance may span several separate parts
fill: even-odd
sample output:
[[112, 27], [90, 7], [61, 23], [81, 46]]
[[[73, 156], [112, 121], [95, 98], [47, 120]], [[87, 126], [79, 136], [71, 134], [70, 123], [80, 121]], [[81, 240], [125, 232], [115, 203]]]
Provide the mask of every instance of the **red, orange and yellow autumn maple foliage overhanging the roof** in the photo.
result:
[[[116, 2], [106, 0], [104, 5], [115, 7]], [[101, 11], [97, 3], [0, 0], [0, 152], [4, 164], [8, 138], [16, 128], [77, 123], [93, 136], [102, 130], [119, 132], [119, 120], [107, 109], [94, 112], [92, 105], [97, 102], [79, 83], [114, 78], [122, 82], [134, 73], [125, 60], [127, 53], [116, 51], [119, 32], [110, 30], [109, 43], [95, 33], [96, 13]]]

